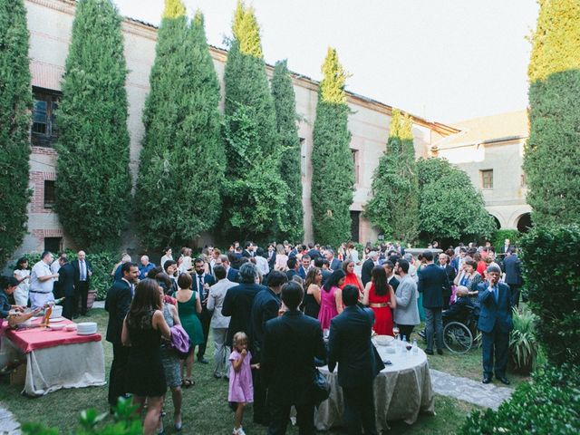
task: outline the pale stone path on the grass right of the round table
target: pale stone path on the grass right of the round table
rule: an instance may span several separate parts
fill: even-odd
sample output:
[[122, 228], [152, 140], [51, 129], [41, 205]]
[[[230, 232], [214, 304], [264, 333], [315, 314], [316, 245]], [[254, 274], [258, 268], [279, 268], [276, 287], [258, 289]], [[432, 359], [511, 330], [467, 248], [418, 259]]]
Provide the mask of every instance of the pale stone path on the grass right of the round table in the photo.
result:
[[485, 384], [439, 370], [431, 369], [430, 373], [433, 391], [436, 393], [492, 410], [497, 410], [499, 405], [507, 401], [514, 392], [511, 388], [499, 387], [493, 383]]

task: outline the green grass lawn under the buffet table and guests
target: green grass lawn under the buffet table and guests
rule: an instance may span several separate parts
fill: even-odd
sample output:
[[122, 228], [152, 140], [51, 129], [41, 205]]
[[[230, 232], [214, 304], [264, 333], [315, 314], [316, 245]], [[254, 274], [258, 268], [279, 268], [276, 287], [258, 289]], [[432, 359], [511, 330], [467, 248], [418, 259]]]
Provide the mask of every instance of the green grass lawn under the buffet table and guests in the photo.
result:
[[[99, 324], [103, 337], [106, 330], [108, 314], [102, 309], [93, 309], [87, 319]], [[107, 378], [111, 367], [112, 346], [103, 341], [105, 351], [105, 368]], [[208, 343], [208, 349], [213, 344]], [[208, 352], [209, 353], [209, 352]], [[208, 356], [208, 355], [207, 355]], [[453, 374], [475, 377], [480, 374], [480, 351], [466, 356], [430, 357], [432, 367]], [[184, 390], [183, 425], [181, 433], [228, 434], [233, 428], [234, 416], [227, 406], [227, 382], [216, 380], [212, 376], [211, 362], [208, 365], [194, 363], [193, 377], [196, 385]], [[514, 376], [511, 377], [514, 379]], [[22, 386], [11, 386], [7, 378], [0, 379], [0, 403], [12, 411], [20, 422], [38, 421], [50, 427], [58, 428], [62, 434], [69, 434], [76, 428], [78, 415], [82, 410], [94, 408], [99, 412], [108, 411], [107, 387], [82, 388], [77, 390], [54, 391], [46, 396], [31, 399], [20, 394]], [[436, 396], [436, 416], [420, 415], [412, 426], [404, 422], [392, 422], [392, 433], [449, 434], [455, 432], [469, 414], [477, 407], [463, 401], [448, 397]], [[166, 433], [178, 433], [173, 430], [172, 404], [166, 404], [168, 415], [165, 417]], [[247, 409], [244, 428], [248, 434], [265, 433], [265, 428], [252, 422], [251, 408]], [[289, 428], [288, 433], [297, 434], [296, 428]], [[328, 434], [343, 433], [340, 430], [321, 432]]]

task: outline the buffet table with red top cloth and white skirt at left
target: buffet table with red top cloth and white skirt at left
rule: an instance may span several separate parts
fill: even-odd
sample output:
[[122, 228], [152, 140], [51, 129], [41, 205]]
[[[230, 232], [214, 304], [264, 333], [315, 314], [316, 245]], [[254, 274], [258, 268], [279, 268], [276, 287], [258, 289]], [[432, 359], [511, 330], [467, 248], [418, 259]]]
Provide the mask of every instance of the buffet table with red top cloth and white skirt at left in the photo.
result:
[[[42, 318], [34, 320], [39, 324]], [[72, 324], [65, 319], [59, 324]], [[26, 359], [23, 393], [42, 396], [62, 388], [101, 386], [105, 382], [105, 362], [101, 334], [78, 335], [76, 331], [37, 327], [8, 329], [0, 325], [0, 352], [9, 361]]]

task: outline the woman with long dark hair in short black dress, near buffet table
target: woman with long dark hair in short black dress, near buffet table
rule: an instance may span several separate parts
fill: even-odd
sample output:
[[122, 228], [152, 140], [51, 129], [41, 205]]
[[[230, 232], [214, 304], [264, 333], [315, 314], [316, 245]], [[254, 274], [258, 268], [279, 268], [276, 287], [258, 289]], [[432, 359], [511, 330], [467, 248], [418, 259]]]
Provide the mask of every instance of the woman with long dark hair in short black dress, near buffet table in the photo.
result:
[[123, 322], [121, 341], [131, 346], [127, 392], [133, 394], [133, 403], [139, 406], [139, 413], [147, 400], [147, 415], [143, 421], [145, 435], [152, 435], [157, 430], [167, 390], [161, 362], [161, 336], [169, 340], [171, 332], [161, 311], [160, 286], [154, 279], [144, 279], [135, 288], [135, 297]]

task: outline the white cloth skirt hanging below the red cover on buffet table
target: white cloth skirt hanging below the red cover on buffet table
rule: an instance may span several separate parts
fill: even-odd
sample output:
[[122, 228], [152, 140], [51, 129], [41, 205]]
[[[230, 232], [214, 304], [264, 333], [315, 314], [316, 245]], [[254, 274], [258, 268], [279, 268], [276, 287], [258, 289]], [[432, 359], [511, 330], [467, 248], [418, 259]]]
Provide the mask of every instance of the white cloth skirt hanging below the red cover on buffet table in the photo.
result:
[[[2, 352], [7, 361], [23, 360], [24, 353], [5, 336]], [[42, 396], [62, 388], [105, 385], [102, 342], [63, 344], [37, 349], [26, 356], [24, 393]]]

